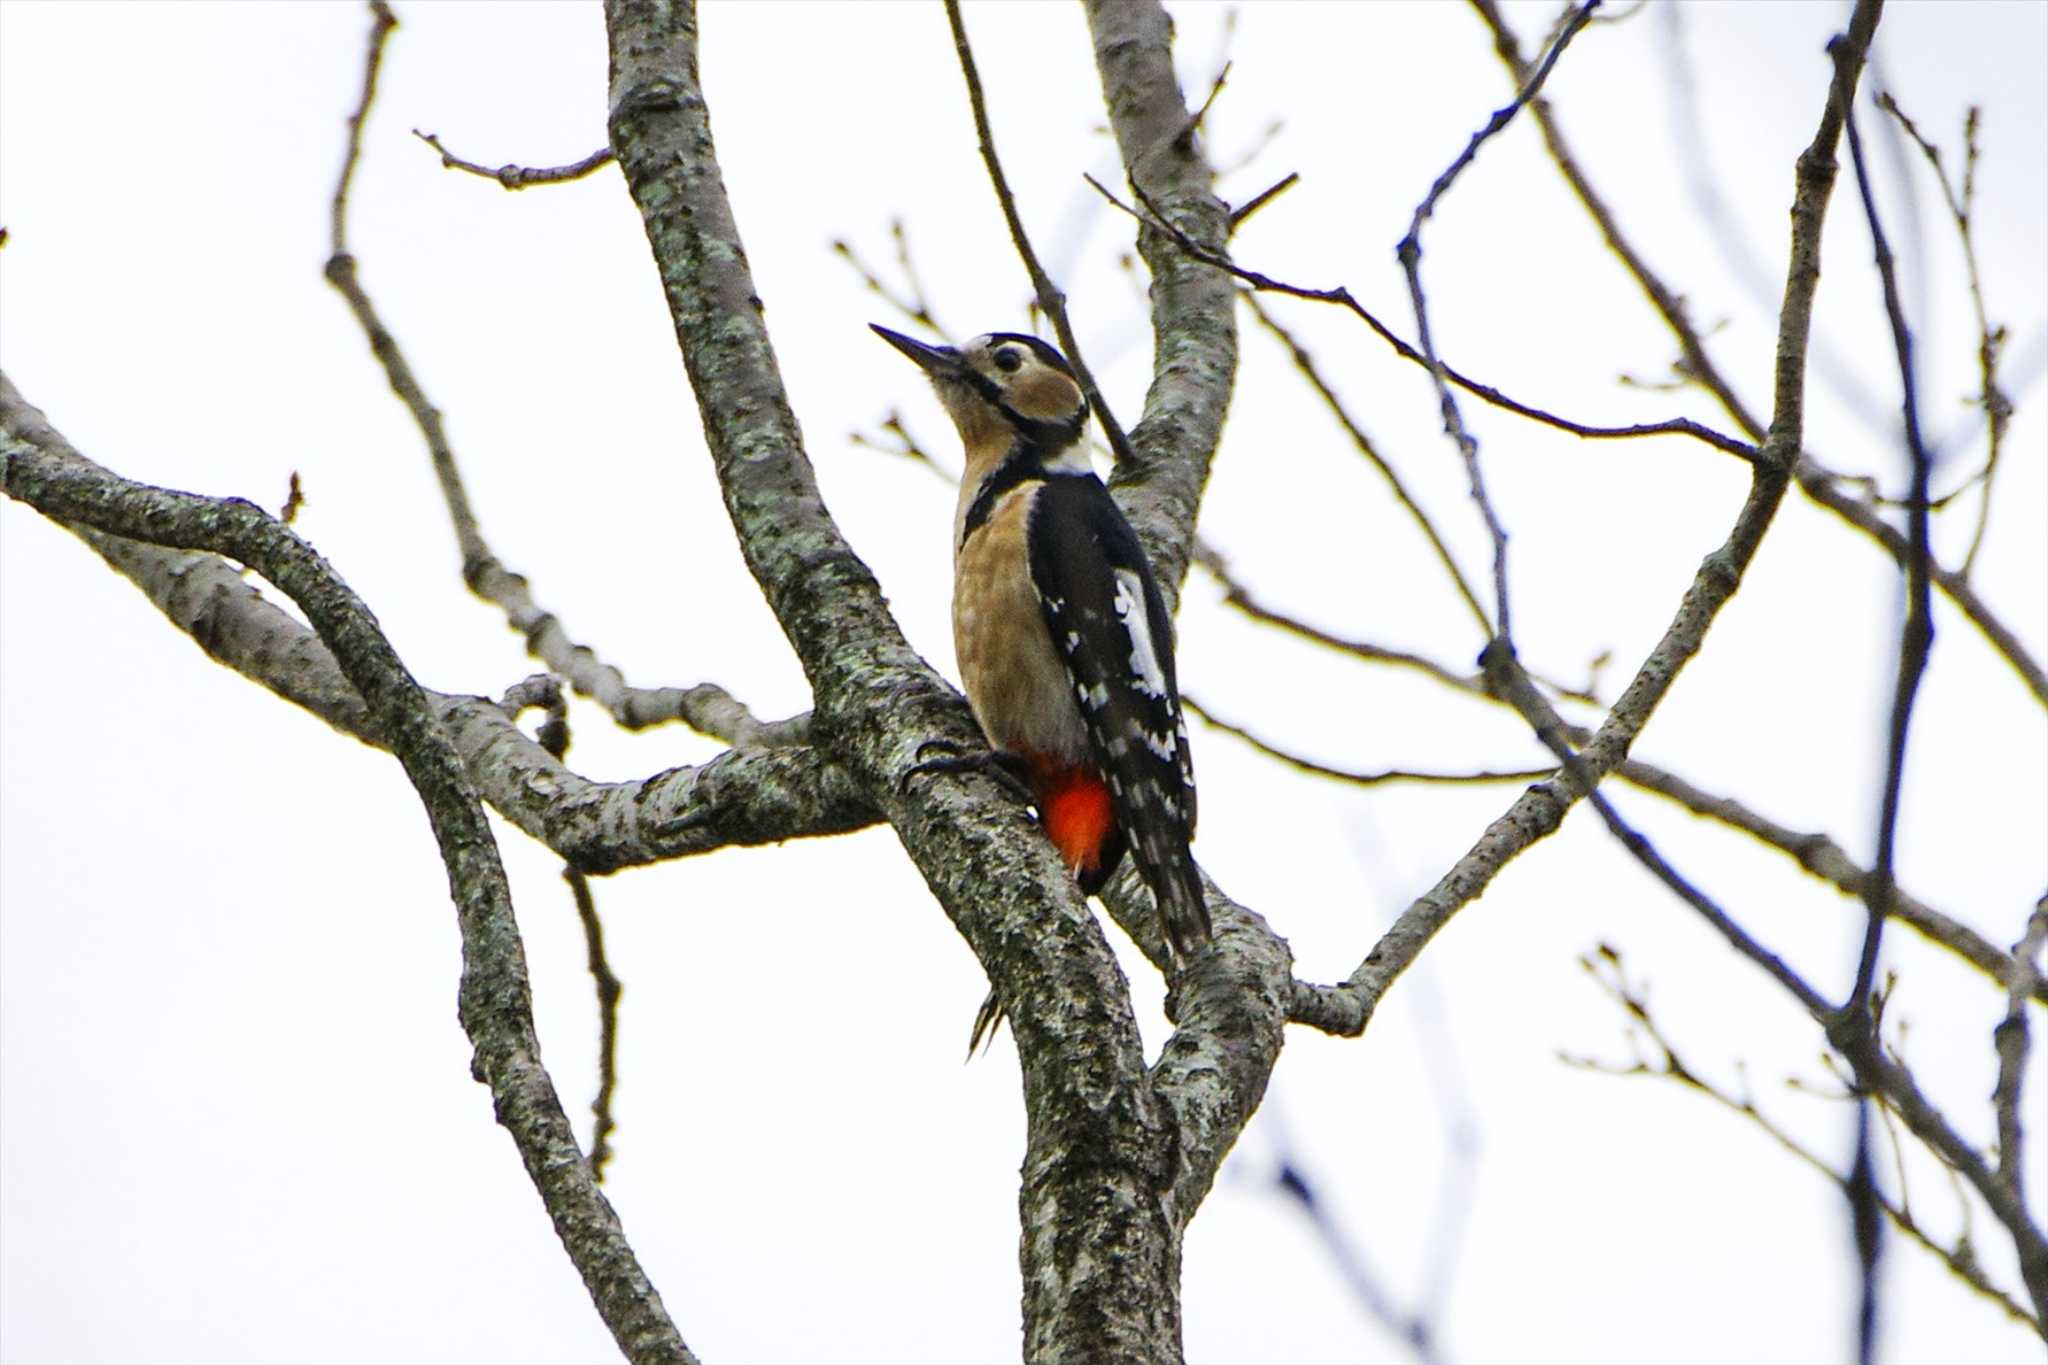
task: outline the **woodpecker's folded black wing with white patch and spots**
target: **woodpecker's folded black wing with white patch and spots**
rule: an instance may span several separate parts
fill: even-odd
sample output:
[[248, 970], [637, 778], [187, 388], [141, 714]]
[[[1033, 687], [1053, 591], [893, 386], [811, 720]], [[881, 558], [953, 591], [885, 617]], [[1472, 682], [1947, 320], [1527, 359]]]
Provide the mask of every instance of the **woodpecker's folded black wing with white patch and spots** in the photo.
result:
[[1194, 761], [1174, 677], [1174, 622], [1145, 548], [1094, 475], [1055, 475], [1030, 510], [1030, 573], [1067, 663], [1116, 825], [1180, 956], [1210, 935], [1194, 837]]

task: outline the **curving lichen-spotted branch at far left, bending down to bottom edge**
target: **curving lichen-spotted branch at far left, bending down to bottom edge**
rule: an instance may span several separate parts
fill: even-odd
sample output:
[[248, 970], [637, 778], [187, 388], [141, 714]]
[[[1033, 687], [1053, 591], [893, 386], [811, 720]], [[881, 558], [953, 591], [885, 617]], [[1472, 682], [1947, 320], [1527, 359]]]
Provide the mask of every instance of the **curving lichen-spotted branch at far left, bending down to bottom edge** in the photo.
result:
[[[385, 29], [389, 23], [379, 25], [379, 35]], [[68, 460], [27, 440], [16, 420], [33, 409], [18, 405], [12, 389], [4, 397], [0, 485], [12, 497], [68, 524], [231, 555], [276, 583], [313, 622], [362, 698], [369, 720], [406, 765], [434, 827], [463, 933], [459, 1013], [475, 1046], [475, 1074], [489, 1085], [498, 1121], [518, 1146], [555, 1234], [629, 1359], [694, 1363], [627, 1244], [618, 1216], [598, 1191], [541, 1066], [512, 892], [483, 806], [430, 698], [391, 651], [369, 608], [311, 546], [254, 503], [156, 489]]]

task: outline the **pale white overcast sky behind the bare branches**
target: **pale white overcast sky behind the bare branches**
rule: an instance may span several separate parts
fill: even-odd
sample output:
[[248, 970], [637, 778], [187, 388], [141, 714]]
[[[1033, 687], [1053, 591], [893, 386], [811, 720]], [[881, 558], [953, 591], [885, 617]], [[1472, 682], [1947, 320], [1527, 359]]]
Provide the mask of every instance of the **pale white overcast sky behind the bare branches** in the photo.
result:
[[[1534, 53], [1554, 10], [1516, 8]], [[1704, 225], [1673, 151], [1659, 6], [1597, 25], [1550, 94], [1653, 264], [1716, 327], [1767, 409], [1792, 160], [1843, 4], [1681, 10], [1704, 145], [1767, 297]], [[618, 174], [506, 194], [440, 170], [408, 129], [487, 162], [559, 164], [604, 141], [604, 33], [588, 4], [406, 4], [356, 180], [365, 284], [446, 411], [483, 532], [569, 630], [662, 686], [713, 679], [758, 714], [807, 704], [739, 563]], [[1239, 260], [1350, 284], [1411, 332], [1393, 260], [1415, 201], [1507, 80], [1464, 6], [1176, 6], [1194, 100], [1225, 55], [1208, 149], [1243, 203], [1300, 186]], [[1077, 6], [971, 6], [1012, 182], [1124, 422], [1149, 377], [1130, 225], [1081, 184], [1122, 184]], [[403, 409], [326, 287], [328, 201], [360, 82], [354, 4], [0, 4], [0, 362], [88, 456], [135, 479], [272, 510], [379, 614], [414, 673], [502, 692], [532, 671], [459, 579]], [[2042, 4], [1894, 4], [1866, 90], [1894, 88], [1954, 147], [1985, 106], [1978, 250], [2011, 327], [2019, 399], [1978, 565], [1993, 608], [2048, 653], [2042, 336], [2048, 319], [2048, 51]], [[889, 264], [903, 217], [956, 336], [1026, 325], [1026, 282], [975, 156], [938, 6], [721, 4], [702, 14], [725, 180], [827, 503], [911, 643], [952, 673], [952, 493], [858, 450], [899, 407], [954, 452], [922, 379], [866, 323], [901, 319], [834, 239]], [[1882, 76], [1880, 76], [1882, 74]], [[1931, 184], [1862, 106], [1913, 270], [1923, 409], [1980, 456], [1958, 252]], [[1270, 143], [1264, 131], [1282, 121]], [[1954, 151], [1952, 151], [1954, 156]], [[1917, 229], [1913, 213], [1917, 211]], [[1534, 129], [1491, 143], [1423, 237], [1444, 354], [1587, 422], [1690, 413], [1671, 344], [1559, 186]], [[1819, 332], [1864, 397], [1815, 389], [1810, 448], [1898, 491], [1896, 370], [1843, 170]], [[1434, 399], [1356, 321], [1276, 311], [1317, 348], [1475, 579], [1485, 540]], [[1739, 505], [1743, 469], [1690, 442], [1579, 444], [1466, 405], [1516, 534], [1524, 659], [1563, 677], [1612, 651], [1606, 694], [1665, 626]], [[1970, 514], [1939, 528], [1960, 559]], [[1464, 667], [1479, 641], [1384, 487], [1321, 420], [1286, 356], [1243, 329], [1202, 532], [1270, 602], [1341, 634]], [[1352, 767], [1520, 767], [1520, 722], [1386, 669], [1292, 645], [1190, 579], [1192, 696]], [[1796, 493], [1642, 757], [1868, 860], [1898, 585]], [[1954, 612], [1913, 735], [1903, 882], [2009, 943], [2042, 892], [2048, 729]], [[571, 716], [569, 761], [639, 778], [719, 745]], [[1311, 980], [1374, 935], [1513, 798], [1513, 786], [1315, 784], [1194, 726], [1198, 853], [1288, 935]], [[209, 663], [78, 540], [0, 508], [0, 1357], [6, 1361], [567, 1361], [612, 1347], [563, 1259], [455, 1021], [459, 939], [426, 821], [395, 761]], [[1862, 911], [1786, 860], [1622, 790], [1659, 839], [1810, 980], [1839, 995]], [[553, 857], [500, 825], [541, 1038], [586, 1130], [596, 1017]], [[723, 851], [598, 884], [625, 980], [606, 1189], [684, 1336], [709, 1361], [967, 1361], [1018, 1349], [1008, 1038], [961, 1048], [983, 978], [887, 831]], [[1114, 931], [1112, 931], [1114, 933]], [[1366, 1038], [1292, 1031], [1262, 1113], [1186, 1248], [1196, 1361], [1405, 1359], [1276, 1193], [1298, 1162], [1405, 1310], [1434, 1306], [1450, 1361], [1835, 1361], [1853, 1281], [1839, 1195], [1755, 1128], [1677, 1087], [1573, 1070], [1626, 1060], [1624, 1019], [1577, 966], [1622, 950], [1688, 1062], [1749, 1085], [1845, 1164], [1849, 1111], [1817, 1029], [1575, 812], [1468, 907]], [[1890, 1017], [1952, 1117], [1991, 1132], [1982, 978], [1905, 931]], [[1149, 1040], [1159, 982], [1126, 956]], [[2044, 1017], [2034, 1013], [2036, 1033]], [[2030, 1115], [2048, 1093], [2034, 1054]], [[2048, 1144], [2030, 1138], [2044, 1216]], [[1915, 1216], [1956, 1197], [1909, 1166]], [[1896, 1179], [1888, 1175], [1896, 1187]], [[2017, 1293], [2007, 1240], [1974, 1246]], [[1890, 1361], [2038, 1361], [2040, 1342], [1901, 1238]]]

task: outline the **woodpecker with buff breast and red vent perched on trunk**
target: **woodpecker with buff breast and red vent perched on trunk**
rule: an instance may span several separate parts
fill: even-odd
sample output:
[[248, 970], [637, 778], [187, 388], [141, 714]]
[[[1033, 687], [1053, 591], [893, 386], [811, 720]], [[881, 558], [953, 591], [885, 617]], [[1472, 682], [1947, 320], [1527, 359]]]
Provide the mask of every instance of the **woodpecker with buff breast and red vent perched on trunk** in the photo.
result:
[[[924, 368], [967, 446], [952, 645], [975, 718], [1081, 890], [1102, 890], [1128, 847], [1186, 960], [1210, 925], [1188, 853], [1194, 763], [1174, 622], [1087, 463], [1081, 385], [1034, 336], [993, 332], [952, 348], [874, 332]], [[985, 1019], [991, 1009], [993, 997]]]

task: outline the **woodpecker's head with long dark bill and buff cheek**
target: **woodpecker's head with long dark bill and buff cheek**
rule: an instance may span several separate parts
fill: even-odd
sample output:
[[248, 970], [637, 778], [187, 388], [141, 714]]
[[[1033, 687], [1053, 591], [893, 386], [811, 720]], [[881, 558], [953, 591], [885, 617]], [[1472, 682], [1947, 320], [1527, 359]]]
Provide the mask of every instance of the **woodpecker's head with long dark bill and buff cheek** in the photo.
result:
[[932, 379], [971, 463], [981, 452], [1008, 452], [1020, 440], [1040, 456], [1057, 456], [1081, 440], [1087, 399], [1065, 356], [1038, 338], [991, 332], [954, 348], [926, 346], [889, 327], [874, 334]]

